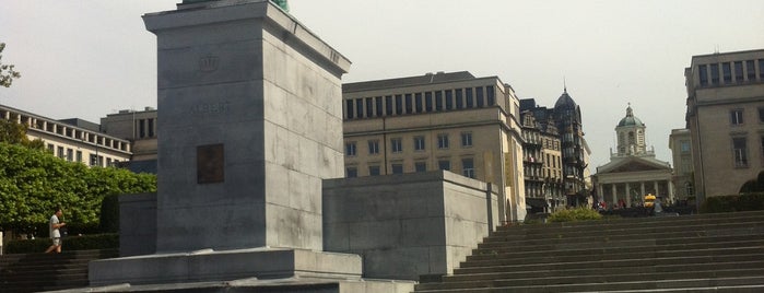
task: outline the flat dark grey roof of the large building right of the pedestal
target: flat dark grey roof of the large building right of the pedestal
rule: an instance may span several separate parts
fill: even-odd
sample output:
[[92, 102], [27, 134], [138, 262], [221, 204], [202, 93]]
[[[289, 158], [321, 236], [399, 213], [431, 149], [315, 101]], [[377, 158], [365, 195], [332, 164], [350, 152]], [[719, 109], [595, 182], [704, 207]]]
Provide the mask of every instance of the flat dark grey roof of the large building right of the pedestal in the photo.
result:
[[409, 78], [398, 78], [389, 80], [376, 80], [376, 81], [364, 81], [364, 82], [352, 82], [343, 83], [342, 92], [361, 92], [377, 89], [389, 89], [389, 87], [402, 87], [409, 85], [428, 84], [428, 83], [442, 83], [442, 82], [454, 82], [454, 81], [465, 81], [474, 80], [475, 77], [469, 71], [458, 71], [458, 72], [437, 72], [437, 73], [426, 73], [424, 75], [409, 77]]

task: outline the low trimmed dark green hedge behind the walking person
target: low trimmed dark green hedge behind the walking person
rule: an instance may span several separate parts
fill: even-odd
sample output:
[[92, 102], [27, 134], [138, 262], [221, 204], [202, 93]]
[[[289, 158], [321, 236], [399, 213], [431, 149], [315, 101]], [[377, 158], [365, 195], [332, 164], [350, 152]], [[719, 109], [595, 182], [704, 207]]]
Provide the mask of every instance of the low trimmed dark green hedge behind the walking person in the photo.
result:
[[[4, 253], [34, 254], [44, 253], [50, 246], [50, 238], [10, 241]], [[63, 237], [62, 250], [87, 250], [119, 248], [119, 234], [97, 234]]]

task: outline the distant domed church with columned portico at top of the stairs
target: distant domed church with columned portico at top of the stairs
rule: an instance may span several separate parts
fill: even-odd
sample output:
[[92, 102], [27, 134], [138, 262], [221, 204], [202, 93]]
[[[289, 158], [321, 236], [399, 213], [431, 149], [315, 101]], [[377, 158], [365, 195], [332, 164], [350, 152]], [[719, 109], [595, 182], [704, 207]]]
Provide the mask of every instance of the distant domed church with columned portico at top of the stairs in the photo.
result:
[[597, 167], [593, 176], [597, 199], [608, 207], [640, 206], [647, 194], [662, 197], [665, 202], [674, 200], [671, 165], [657, 160], [653, 148], [647, 149], [646, 128], [630, 104], [615, 127], [616, 152], [611, 149], [610, 162]]

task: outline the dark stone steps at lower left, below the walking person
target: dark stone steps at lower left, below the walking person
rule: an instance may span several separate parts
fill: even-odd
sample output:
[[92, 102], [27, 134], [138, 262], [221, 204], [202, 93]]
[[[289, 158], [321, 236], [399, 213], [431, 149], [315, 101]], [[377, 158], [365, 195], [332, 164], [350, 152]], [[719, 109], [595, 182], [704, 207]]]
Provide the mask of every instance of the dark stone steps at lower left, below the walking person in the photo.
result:
[[87, 262], [118, 257], [116, 249], [0, 256], [0, 292], [38, 292], [87, 286]]

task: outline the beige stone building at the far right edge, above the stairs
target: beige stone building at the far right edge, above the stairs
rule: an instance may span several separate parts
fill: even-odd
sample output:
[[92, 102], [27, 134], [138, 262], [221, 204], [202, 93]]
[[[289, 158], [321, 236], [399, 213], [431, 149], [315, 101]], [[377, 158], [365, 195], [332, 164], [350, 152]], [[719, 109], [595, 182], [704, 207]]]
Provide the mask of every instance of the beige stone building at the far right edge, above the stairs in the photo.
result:
[[698, 202], [764, 167], [764, 49], [693, 56], [684, 70]]

